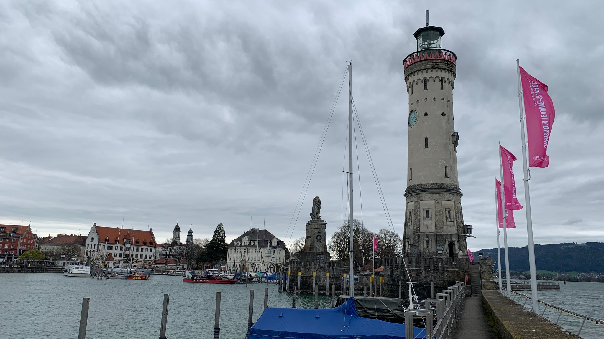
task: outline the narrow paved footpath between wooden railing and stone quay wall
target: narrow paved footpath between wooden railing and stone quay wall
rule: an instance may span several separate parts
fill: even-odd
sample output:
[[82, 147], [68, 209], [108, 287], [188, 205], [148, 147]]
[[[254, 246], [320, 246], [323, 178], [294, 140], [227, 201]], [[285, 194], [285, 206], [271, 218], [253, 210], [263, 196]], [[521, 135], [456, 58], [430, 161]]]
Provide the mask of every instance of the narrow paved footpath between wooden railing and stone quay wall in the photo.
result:
[[495, 332], [484, 318], [480, 297], [466, 297], [453, 331], [453, 339], [496, 339]]

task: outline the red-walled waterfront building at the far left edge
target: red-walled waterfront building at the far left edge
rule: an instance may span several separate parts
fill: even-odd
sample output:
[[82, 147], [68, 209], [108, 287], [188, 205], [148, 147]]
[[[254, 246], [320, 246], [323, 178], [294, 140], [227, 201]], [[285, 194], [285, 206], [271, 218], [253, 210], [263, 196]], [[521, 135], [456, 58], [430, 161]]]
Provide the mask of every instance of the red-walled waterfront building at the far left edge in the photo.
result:
[[0, 258], [14, 260], [21, 253], [36, 248], [36, 240], [30, 225], [1, 225], [0, 224]]

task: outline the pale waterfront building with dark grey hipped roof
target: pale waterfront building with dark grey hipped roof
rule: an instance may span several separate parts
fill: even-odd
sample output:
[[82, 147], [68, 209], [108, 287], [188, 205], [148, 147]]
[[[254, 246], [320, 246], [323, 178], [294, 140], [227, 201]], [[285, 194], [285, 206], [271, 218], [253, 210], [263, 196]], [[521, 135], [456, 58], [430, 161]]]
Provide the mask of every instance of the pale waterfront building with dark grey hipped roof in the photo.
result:
[[251, 229], [228, 244], [226, 269], [274, 273], [283, 267], [287, 256], [283, 241], [268, 230]]

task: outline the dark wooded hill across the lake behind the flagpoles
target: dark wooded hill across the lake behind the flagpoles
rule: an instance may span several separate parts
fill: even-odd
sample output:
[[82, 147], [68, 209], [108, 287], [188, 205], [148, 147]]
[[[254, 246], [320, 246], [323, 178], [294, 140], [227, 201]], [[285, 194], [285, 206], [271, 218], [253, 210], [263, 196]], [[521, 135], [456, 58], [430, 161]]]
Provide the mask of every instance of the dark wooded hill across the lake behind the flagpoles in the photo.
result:
[[[497, 249], [484, 249], [474, 252], [490, 255], [493, 262], [497, 261]], [[512, 271], [528, 271], [528, 246], [509, 247], [510, 269]], [[535, 245], [535, 264], [537, 270], [560, 272], [596, 272], [604, 273], [604, 242], [585, 242], [576, 244]], [[506, 270], [503, 244], [501, 247], [501, 269]]]

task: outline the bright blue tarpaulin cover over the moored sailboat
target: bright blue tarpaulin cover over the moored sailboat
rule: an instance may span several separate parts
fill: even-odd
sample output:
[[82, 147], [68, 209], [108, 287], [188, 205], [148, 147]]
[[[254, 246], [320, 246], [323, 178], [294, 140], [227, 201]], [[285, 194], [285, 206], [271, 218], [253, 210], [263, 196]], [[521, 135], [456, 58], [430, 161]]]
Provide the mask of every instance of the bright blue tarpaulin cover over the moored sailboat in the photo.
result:
[[[426, 329], [414, 328], [413, 336], [426, 339]], [[248, 338], [403, 339], [405, 325], [361, 318], [351, 298], [327, 309], [266, 308], [249, 329]]]

